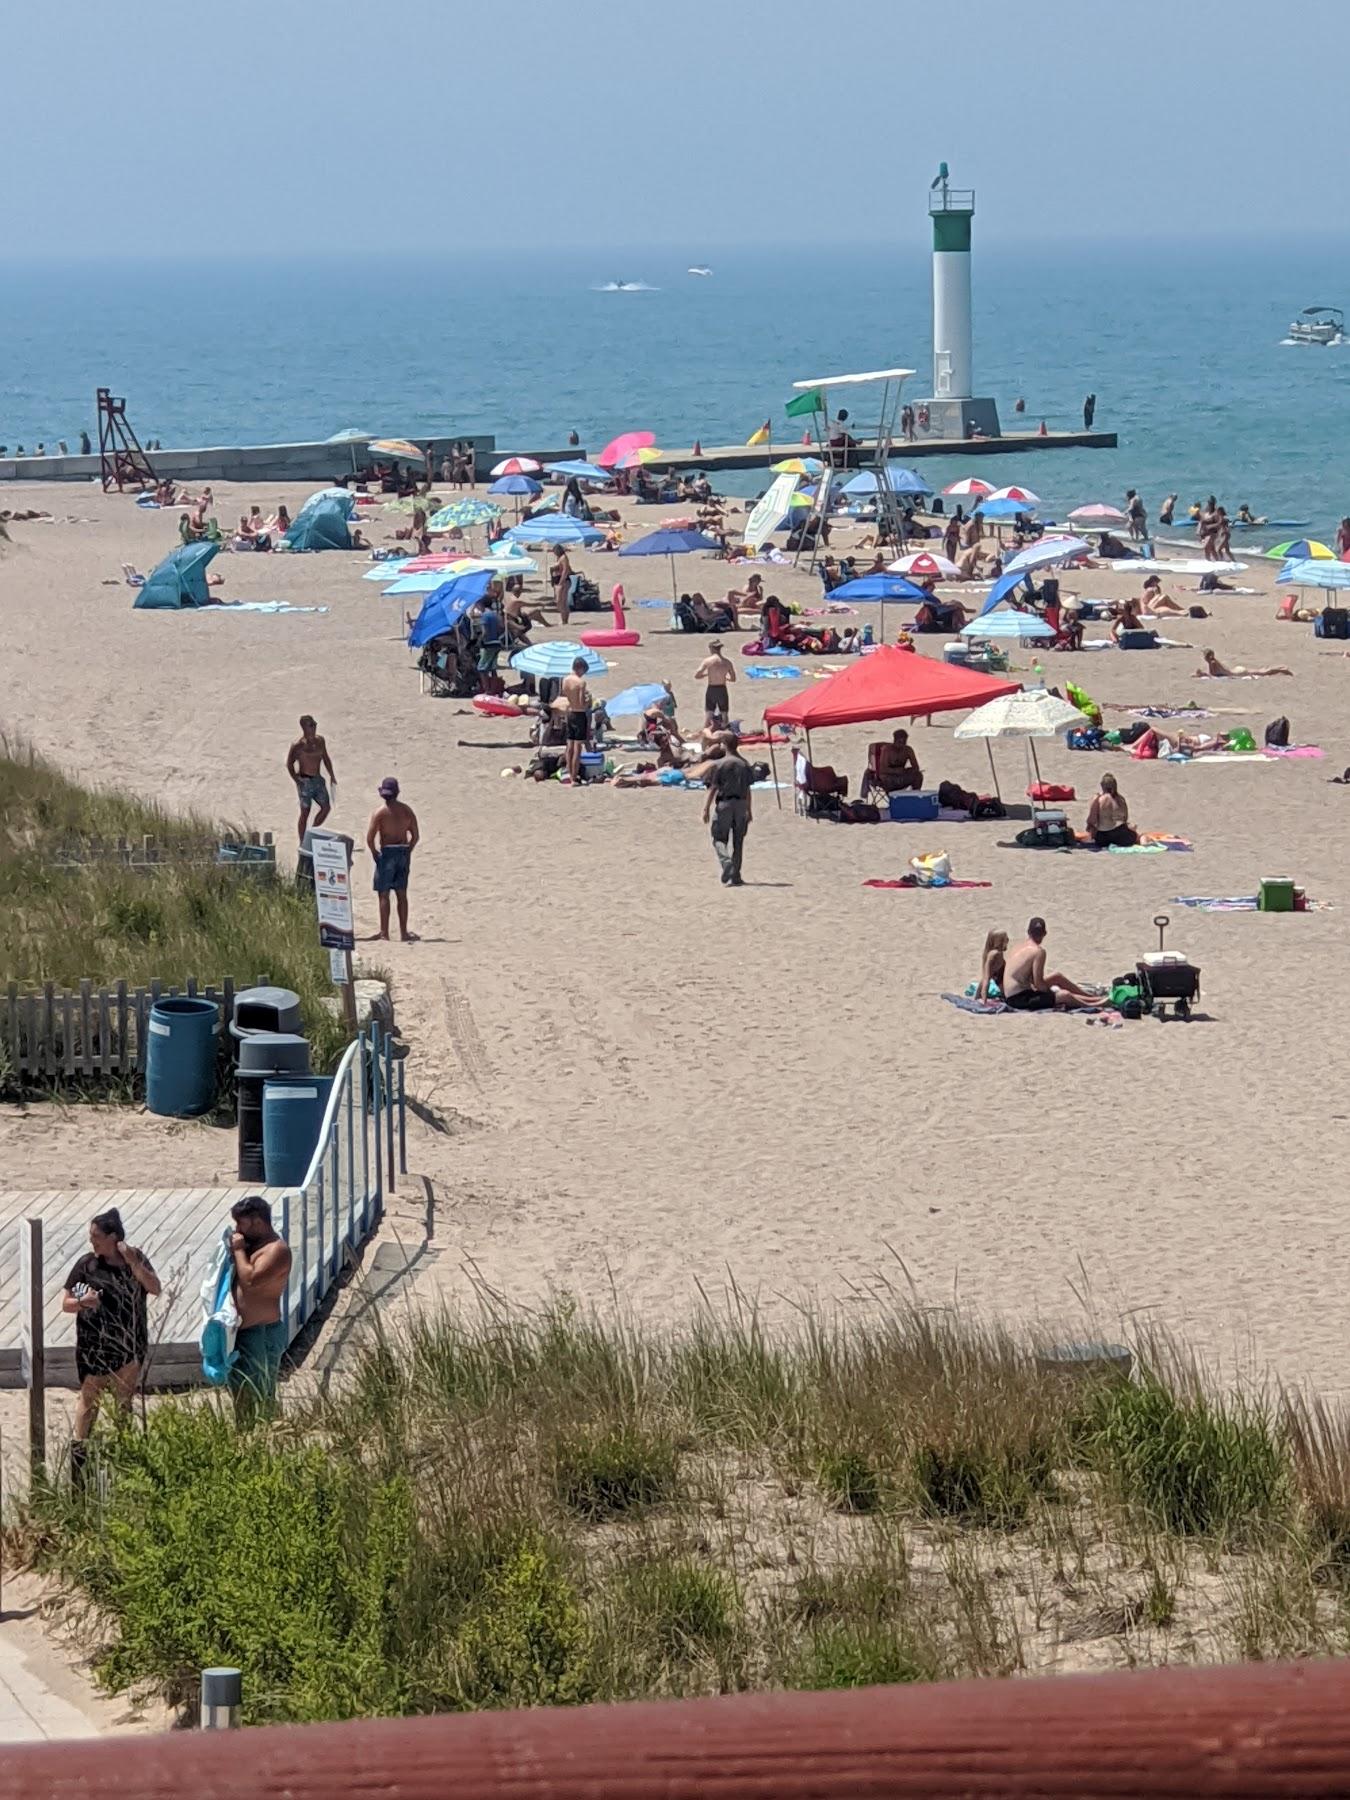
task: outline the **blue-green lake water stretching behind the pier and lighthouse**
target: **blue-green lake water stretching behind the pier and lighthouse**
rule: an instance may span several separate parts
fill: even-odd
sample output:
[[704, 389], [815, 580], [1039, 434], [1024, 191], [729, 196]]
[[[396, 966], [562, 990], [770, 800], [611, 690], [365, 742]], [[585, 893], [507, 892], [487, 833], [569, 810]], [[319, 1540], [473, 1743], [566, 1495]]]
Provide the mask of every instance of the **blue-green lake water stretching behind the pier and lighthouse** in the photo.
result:
[[[916, 367], [929, 391], [925, 254], [643, 252], [0, 268], [0, 443], [92, 430], [112, 385], [166, 445], [488, 430], [500, 445], [592, 452], [617, 430], [734, 443], [765, 418], [792, 437], [797, 378]], [[1298, 268], [1298, 275], [1289, 270]], [[601, 293], [610, 279], [653, 292]], [[1350, 349], [1282, 347], [1307, 304], [1350, 301], [1350, 247], [1303, 252], [976, 247], [976, 387], [1004, 427], [1096, 423], [1116, 452], [981, 459], [1053, 509], [1138, 486], [1150, 513], [1215, 491], [1319, 533], [1350, 511]], [[855, 414], [866, 418], [866, 405]], [[961, 463], [925, 463], [950, 481]], [[756, 488], [760, 477], [740, 486]]]

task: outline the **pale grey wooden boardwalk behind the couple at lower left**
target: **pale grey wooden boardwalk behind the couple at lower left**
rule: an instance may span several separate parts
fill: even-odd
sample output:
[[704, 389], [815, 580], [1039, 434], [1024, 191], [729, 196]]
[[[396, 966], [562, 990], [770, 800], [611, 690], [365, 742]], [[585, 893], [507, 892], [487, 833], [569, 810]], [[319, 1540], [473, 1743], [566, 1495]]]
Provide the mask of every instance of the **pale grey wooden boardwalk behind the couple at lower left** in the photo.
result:
[[176, 1386], [202, 1373], [200, 1291], [230, 1206], [259, 1192], [279, 1219], [279, 1188], [0, 1188], [0, 1388], [22, 1386], [18, 1242], [23, 1219], [43, 1222], [47, 1384], [76, 1386], [76, 1321], [61, 1312], [61, 1292], [76, 1258], [88, 1249], [90, 1219], [115, 1206], [128, 1240], [144, 1249], [164, 1283], [162, 1298], [149, 1301], [148, 1386]]

